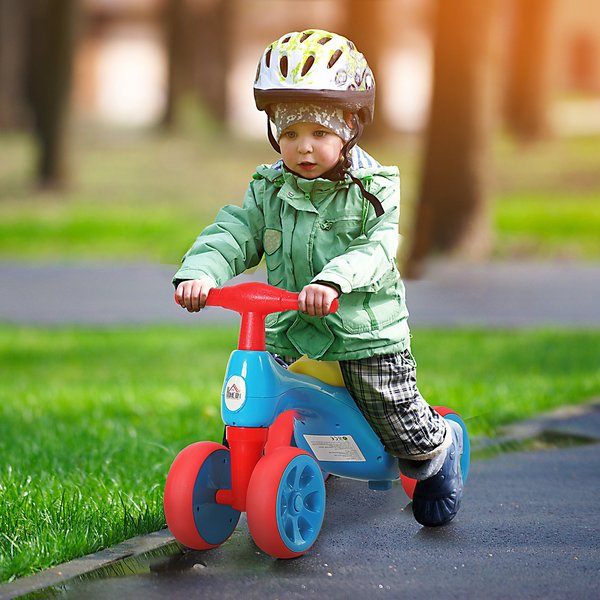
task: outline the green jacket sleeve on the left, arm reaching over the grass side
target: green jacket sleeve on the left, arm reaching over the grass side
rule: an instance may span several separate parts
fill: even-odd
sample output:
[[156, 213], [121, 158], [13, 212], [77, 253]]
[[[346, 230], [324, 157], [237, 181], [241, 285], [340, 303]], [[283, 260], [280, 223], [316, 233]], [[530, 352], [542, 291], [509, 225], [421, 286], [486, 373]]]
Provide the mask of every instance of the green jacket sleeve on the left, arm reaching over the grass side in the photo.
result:
[[196, 238], [173, 277], [175, 286], [180, 281], [202, 277], [221, 286], [260, 262], [264, 216], [256, 199], [256, 183], [249, 185], [241, 207], [223, 207], [215, 221]]

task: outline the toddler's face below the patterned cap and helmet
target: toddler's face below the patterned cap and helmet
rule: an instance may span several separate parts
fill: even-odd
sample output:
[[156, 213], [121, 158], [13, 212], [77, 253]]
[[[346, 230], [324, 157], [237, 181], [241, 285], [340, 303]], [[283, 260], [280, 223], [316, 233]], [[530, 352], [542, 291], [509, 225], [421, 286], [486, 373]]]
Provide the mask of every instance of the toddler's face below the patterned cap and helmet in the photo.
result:
[[290, 125], [279, 138], [285, 166], [305, 179], [315, 179], [333, 168], [343, 145], [342, 138], [316, 123]]

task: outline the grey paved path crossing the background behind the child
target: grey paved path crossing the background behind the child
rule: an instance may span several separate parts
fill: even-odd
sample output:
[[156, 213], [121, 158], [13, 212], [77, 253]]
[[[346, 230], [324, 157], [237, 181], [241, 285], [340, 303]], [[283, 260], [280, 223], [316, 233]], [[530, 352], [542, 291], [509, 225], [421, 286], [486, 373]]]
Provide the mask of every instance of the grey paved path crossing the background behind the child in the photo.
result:
[[[190, 323], [173, 302], [175, 266], [0, 262], [0, 322]], [[251, 276], [262, 279], [258, 271]], [[599, 326], [600, 264], [437, 263], [408, 281], [413, 325]], [[237, 318], [207, 309], [199, 324]]]

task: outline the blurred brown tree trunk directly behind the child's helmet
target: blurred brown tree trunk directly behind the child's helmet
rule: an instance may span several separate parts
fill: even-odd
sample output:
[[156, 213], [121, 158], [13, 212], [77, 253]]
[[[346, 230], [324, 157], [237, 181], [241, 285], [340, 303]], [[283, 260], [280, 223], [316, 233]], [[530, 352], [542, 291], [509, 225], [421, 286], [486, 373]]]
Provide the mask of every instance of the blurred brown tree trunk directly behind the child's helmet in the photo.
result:
[[373, 123], [365, 128], [364, 138], [374, 139], [389, 135], [391, 125], [384, 111], [381, 109], [385, 80], [383, 77], [383, 60], [388, 47], [388, 40], [384, 34], [387, 27], [384, 20], [389, 18], [389, 8], [383, 0], [344, 0], [342, 9], [344, 11], [343, 25], [340, 33], [354, 42], [359, 52], [364, 54], [377, 86], [375, 98], [375, 119]]

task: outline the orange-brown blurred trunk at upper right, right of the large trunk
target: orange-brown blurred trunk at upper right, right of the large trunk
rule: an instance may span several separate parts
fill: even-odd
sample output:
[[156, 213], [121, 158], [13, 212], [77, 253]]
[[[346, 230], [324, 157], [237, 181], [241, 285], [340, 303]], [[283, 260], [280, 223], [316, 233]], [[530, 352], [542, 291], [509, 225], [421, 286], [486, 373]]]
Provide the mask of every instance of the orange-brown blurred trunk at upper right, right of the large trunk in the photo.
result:
[[523, 140], [549, 132], [552, 25], [555, 0], [512, 0], [512, 35], [506, 81], [506, 124]]

